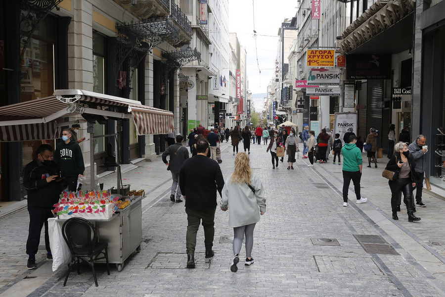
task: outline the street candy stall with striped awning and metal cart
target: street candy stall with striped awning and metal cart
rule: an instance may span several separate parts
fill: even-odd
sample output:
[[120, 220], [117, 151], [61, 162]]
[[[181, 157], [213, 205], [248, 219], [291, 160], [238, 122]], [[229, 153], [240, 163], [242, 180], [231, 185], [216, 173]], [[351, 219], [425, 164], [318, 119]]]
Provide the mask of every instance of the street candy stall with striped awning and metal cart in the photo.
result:
[[[107, 118], [114, 120], [129, 119], [134, 121], [137, 135], [167, 134], [173, 131], [173, 113], [167, 110], [154, 108], [141, 104], [139, 101], [123, 99], [115, 96], [103, 95], [84, 90], [56, 90], [53, 96], [42, 99], [21, 102], [0, 107], [0, 142], [21, 142], [33, 140], [51, 140], [60, 138], [61, 127], [69, 126], [75, 121], [65, 121], [68, 117], [82, 115], [88, 122], [90, 153], [90, 185], [93, 188], [94, 181], [94, 131], [92, 123], [103, 121]], [[116, 134], [99, 137], [112, 137], [116, 140]], [[97, 138], [97, 137], [96, 137]], [[118, 150], [119, 151], [119, 150]], [[119, 153], [118, 153], [119, 155]], [[123, 209], [115, 209], [111, 212], [107, 207], [117, 205], [116, 201], [101, 200], [103, 193], [111, 192], [83, 192], [83, 199], [67, 197], [65, 205], [57, 205], [56, 212], [66, 214], [64, 220], [71, 215], [85, 213], [95, 226], [99, 228], [101, 240], [109, 243], [110, 263], [116, 263], [121, 271], [125, 259], [140, 248], [142, 239], [141, 230], [141, 199], [143, 194], [130, 196], [122, 188], [120, 165], [117, 167], [117, 193], [127, 195], [122, 202]], [[94, 189], [83, 189], [94, 190]], [[129, 189], [128, 189], [129, 190]], [[91, 197], [88, 197], [88, 193]], [[91, 194], [94, 193], [94, 194]], [[72, 195], [67, 194], [67, 195]], [[108, 195], [108, 194], [107, 194]], [[89, 199], [87, 201], [87, 199]], [[62, 201], [64, 199], [62, 198]], [[87, 202], [87, 203], [86, 203]], [[82, 204], [81, 204], [82, 203]], [[110, 203], [110, 205], [107, 205]], [[87, 206], [88, 205], [88, 206]], [[62, 207], [63, 209], [60, 209]], [[59, 209], [57, 209], [59, 208]], [[82, 212], [81, 212], [82, 210]], [[65, 213], [66, 211], [66, 213]], [[97, 216], [95, 214], [97, 213]], [[108, 213], [108, 215], [107, 215]], [[60, 220], [61, 222], [63, 219]]]

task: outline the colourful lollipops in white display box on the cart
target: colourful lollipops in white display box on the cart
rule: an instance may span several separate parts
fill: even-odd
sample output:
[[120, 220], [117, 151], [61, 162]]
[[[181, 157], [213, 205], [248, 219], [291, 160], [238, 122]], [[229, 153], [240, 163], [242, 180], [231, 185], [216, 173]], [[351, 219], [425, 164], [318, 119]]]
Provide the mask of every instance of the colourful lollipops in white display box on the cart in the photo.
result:
[[61, 201], [54, 204], [54, 212], [60, 218], [83, 217], [86, 219], [109, 219], [120, 208], [119, 197], [109, 191], [63, 191]]

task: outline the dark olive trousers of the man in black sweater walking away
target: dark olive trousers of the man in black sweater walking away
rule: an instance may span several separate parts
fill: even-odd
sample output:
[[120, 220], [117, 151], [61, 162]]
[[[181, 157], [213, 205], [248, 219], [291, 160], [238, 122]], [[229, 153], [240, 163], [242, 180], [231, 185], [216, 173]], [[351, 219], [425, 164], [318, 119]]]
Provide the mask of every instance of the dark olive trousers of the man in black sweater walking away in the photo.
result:
[[195, 254], [196, 234], [198, 233], [201, 220], [202, 227], [204, 227], [204, 246], [206, 250], [212, 249], [215, 236], [215, 211], [216, 208], [193, 209], [185, 207], [188, 221], [187, 234], [185, 236], [187, 255]]

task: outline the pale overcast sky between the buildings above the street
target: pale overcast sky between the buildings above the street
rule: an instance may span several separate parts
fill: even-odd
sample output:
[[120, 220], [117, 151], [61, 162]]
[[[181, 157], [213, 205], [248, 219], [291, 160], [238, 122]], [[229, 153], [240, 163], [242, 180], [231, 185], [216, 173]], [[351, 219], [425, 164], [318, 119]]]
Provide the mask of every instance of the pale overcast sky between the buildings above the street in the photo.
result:
[[[285, 18], [295, 16], [296, 0], [229, 0], [229, 30], [237, 33], [247, 51], [247, 79], [252, 94], [267, 93], [267, 83], [274, 75], [278, 29]], [[257, 31], [258, 62], [254, 39]]]

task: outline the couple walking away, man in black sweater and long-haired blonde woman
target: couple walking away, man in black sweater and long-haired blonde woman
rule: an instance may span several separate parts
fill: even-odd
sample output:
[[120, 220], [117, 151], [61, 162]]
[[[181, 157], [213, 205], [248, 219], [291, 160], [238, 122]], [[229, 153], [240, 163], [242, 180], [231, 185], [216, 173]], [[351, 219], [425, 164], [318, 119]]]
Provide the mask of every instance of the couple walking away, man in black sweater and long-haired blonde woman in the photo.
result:
[[[185, 200], [187, 213], [186, 251], [187, 268], [195, 268], [196, 235], [202, 221], [204, 228], [205, 257], [215, 255], [213, 240], [215, 236], [215, 211], [217, 191], [220, 193], [221, 209], [229, 210], [229, 226], [233, 227], [234, 257], [230, 270], [238, 270], [239, 252], [244, 235], [246, 236], [246, 265], [254, 260], [253, 231], [260, 220], [260, 214], [266, 212], [266, 199], [260, 178], [252, 172], [249, 156], [239, 153], [235, 158], [235, 170], [224, 183], [219, 164], [207, 158], [209, 143], [206, 139], [196, 144], [197, 155], [185, 160], [179, 172], [179, 186]], [[196, 178], [196, 168], [200, 168], [200, 177]], [[242, 205], [242, 207], [240, 206]]]

